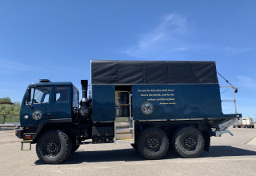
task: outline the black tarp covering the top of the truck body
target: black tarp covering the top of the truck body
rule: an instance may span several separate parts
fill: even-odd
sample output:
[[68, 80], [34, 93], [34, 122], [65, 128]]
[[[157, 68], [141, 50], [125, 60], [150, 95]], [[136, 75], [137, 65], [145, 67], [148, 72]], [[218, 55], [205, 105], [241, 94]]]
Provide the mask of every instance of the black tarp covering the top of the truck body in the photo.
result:
[[218, 83], [213, 61], [91, 61], [92, 84]]

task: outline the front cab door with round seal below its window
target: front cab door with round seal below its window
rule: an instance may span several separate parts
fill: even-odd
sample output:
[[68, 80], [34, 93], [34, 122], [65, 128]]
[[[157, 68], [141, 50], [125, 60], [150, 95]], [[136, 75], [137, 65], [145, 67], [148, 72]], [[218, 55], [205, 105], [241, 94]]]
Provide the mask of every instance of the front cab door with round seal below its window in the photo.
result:
[[22, 114], [23, 124], [38, 126], [40, 122], [50, 119], [52, 115], [52, 87], [38, 86], [31, 88], [30, 102], [26, 102]]

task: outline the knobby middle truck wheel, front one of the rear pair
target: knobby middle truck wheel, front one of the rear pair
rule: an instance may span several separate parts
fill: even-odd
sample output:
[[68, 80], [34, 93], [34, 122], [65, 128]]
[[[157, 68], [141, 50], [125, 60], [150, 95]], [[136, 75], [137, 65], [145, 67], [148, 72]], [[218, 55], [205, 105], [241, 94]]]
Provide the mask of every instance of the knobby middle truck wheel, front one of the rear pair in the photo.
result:
[[169, 139], [166, 133], [158, 128], [149, 128], [138, 136], [138, 151], [147, 159], [159, 159], [166, 155]]

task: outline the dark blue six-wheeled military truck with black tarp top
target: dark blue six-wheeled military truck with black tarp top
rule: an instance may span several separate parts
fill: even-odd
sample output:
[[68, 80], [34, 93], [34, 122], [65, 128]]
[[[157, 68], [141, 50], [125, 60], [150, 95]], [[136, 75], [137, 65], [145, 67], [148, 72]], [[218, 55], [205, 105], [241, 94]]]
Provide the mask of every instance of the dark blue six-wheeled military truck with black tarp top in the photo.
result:
[[194, 158], [242, 117], [222, 114], [215, 62], [93, 60], [89, 96], [81, 83], [81, 101], [71, 82], [28, 86], [16, 131], [22, 150], [36, 143], [50, 164], [89, 143], [130, 143], [148, 159], [169, 149]]

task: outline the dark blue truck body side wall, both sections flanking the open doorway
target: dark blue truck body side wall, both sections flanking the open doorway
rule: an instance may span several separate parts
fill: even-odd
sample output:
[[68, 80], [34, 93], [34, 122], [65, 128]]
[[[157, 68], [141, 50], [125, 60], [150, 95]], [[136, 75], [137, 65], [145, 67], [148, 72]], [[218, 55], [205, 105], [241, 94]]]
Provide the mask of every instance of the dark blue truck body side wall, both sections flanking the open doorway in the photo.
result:
[[[114, 121], [115, 86], [93, 85], [92, 93], [93, 122]], [[131, 94], [134, 120], [223, 115], [218, 84], [134, 85]]]

